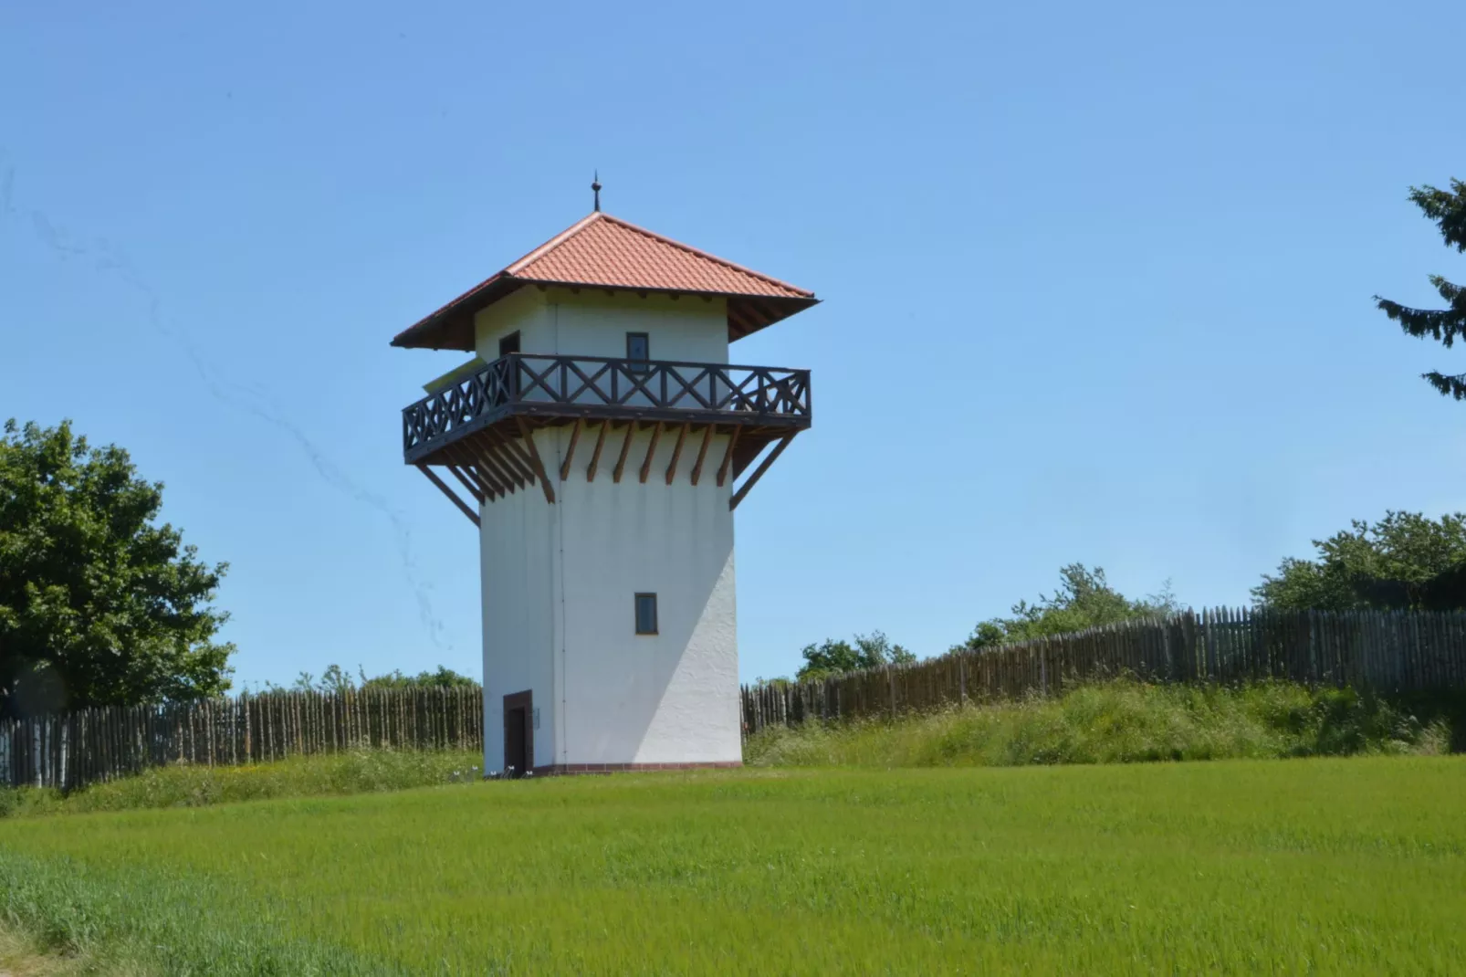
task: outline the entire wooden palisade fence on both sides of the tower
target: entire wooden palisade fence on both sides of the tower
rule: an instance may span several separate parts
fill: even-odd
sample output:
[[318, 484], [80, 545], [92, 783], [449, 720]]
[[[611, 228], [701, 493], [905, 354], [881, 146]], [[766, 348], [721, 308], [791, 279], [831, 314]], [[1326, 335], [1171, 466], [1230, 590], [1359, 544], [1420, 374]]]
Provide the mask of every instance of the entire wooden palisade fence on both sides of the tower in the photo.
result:
[[[1381, 692], [1466, 689], [1466, 612], [1186, 612], [960, 651], [913, 665], [742, 689], [743, 731], [1051, 694], [1133, 675], [1287, 679]], [[471, 688], [268, 692], [0, 720], [0, 786], [78, 788], [166, 763], [243, 764], [358, 747], [478, 750]]]

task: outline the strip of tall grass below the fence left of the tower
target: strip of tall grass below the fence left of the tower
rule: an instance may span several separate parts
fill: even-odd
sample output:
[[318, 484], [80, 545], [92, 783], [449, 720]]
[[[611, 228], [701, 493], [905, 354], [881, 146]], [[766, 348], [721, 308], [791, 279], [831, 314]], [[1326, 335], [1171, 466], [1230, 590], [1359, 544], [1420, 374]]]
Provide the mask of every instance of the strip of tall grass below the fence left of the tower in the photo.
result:
[[239, 767], [173, 764], [67, 795], [54, 789], [0, 788], [0, 817], [403, 791], [476, 780], [481, 763], [482, 754], [476, 751], [355, 750]]

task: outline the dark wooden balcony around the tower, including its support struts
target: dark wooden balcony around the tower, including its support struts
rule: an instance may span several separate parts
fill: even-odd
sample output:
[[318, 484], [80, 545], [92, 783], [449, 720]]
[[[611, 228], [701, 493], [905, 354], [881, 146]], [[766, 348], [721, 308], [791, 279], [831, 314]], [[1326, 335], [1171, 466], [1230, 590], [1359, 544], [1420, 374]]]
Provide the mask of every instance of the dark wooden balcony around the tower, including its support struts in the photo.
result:
[[[476, 522], [428, 466], [447, 466], [478, 502], [535, 481], [541, 483], [545, 499], [554, 502], [550, 478], [529, 437], [539, 427], [573, 424], [572, 453], [581, 431], [594, 428], [597, 459], [608, 431], [625, 430], [629, 446], [636, 431], [652, 428], [642, 481], [663, 431], [674, 431], [671, 436], [677, 437], [673, 465], [689, 434], [702, 434], [702, 452], [715, 433], [729, 434], [726, 458], [715, 472], [720, 486], [777, 442], [734, 494], [736, 505], [811, 420], [808, 370], [510, 354], [405, 408], [402, 452], [406, 464], [421, 468]], [[622, 462], [625, 455], [623, 449]], [[699, 471], [702, 461], [699, 455]], [[566, 458], [561, 481], [569, 469]], [[594, 477], [594, 466], [588, 474]], [[617, 481], [620, 475], [617, 465]], [[671, 477], [668, 471], [668, 484]]]

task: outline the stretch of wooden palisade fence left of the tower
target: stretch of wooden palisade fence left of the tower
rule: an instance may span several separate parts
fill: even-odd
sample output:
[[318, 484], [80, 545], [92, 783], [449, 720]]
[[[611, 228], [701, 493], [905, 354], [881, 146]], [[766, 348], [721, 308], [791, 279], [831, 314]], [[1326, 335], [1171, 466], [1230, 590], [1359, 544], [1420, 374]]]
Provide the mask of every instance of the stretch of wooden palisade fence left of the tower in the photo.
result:
[[0, 720], [0, 786], [72, 789], [166, 763], [258, 763], [359, 747], [479, 750], [476, 688], [267, 692]]

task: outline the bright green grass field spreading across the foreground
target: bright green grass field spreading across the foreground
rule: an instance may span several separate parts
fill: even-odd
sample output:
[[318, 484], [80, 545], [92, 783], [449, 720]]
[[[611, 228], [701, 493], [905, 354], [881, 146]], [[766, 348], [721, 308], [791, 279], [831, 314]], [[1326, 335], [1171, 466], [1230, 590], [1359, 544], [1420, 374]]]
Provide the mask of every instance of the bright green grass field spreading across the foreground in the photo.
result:
[[493, 782], [4, 820], [0, 907], [158, 973], [1447, 974], [1462, 811], [1460, 757]]

